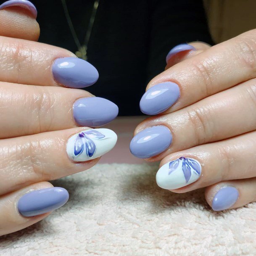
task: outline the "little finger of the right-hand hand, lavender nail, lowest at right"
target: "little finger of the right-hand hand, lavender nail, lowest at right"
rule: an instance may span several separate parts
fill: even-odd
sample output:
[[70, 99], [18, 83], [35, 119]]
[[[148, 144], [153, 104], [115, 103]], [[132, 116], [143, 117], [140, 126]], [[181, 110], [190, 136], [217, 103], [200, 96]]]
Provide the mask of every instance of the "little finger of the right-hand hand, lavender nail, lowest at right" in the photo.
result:
[[256, 178], [219, 182], [206, 188], [205, 198], [214, 211], [245, 206], [256, 201]]

